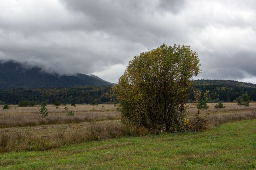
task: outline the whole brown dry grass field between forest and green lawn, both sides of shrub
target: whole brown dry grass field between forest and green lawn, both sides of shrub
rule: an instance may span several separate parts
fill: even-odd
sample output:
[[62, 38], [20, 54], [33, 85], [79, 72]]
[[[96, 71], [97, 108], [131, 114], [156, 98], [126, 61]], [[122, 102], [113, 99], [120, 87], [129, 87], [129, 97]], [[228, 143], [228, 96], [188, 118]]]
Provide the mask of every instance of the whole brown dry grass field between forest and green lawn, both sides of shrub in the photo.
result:
[[[223, 103], [224, 109], [216, 109], [216, 103], [208, 103], [209, 109], [201, 112], [208, 115], [208, 128], [220, 123], [236, 120], [256, 119], [256, 103], [250, 107], [237, 103]], [[44, 150], [65, 144], [122, 136], [145, 135], [147, 130], [121, 124], [120, 112], [114, 104], [98, 106], [46, 106], [48, 116], [40, 118], [40, 107], [18, 107], [11, 105], [8, 110], [0, 109], [0, 152]], [[68, 107], [68, 110], [64, 110]], [[74, 116], [67, 116], [73, 111]], [[187, 118], [193, 122], [197, 108], [191, 104]]]

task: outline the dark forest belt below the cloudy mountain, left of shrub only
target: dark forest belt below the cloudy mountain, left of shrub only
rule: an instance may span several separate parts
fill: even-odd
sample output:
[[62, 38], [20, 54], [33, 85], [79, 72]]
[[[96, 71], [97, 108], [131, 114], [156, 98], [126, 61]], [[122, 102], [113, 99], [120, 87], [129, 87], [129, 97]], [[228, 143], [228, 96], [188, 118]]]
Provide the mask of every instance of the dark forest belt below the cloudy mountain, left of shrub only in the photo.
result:
[[69, 87], [69, 88], [36, 88], [36, 89], [7, 89], [0, 90], [0, 104], [18, 104], [21, 100], [34, 100], [37, 103], [47, 101], [54, 103], [59, 100], [60, 103], [70, 104], [81, 103], [106, 103], [110, 102], [110, 86], [94, 87]]

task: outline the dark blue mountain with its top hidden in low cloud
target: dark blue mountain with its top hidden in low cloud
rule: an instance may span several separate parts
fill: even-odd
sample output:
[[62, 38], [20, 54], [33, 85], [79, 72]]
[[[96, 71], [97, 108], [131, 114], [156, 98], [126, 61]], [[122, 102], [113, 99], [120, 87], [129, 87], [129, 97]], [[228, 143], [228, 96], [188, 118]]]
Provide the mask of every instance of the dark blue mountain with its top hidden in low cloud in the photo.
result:
[[0, 62], [0, 77], [0, 89], [113, 85], [86, 74], [51, 74], [39, 66], [26, 66], [13, 60]]

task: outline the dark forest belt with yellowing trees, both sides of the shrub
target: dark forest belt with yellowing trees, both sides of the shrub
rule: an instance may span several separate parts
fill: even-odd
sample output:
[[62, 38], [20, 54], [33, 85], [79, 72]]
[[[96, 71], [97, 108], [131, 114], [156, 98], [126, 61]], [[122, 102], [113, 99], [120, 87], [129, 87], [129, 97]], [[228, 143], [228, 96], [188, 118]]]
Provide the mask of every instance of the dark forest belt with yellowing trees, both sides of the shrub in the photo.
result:
[[[210, 91], [210, 100], [219, 98], [224, 102], [232, 102], [243, 93], [250, 96], [250, 100], [256, 100], [256, 84], [243, 83], [232, 80], [194, 80], [194, 89]], [[34, 88], [34, 89], [6, 89], [0, 90], [0, 104], [17, 104], [21, 100], [34, 100], [38, 103], [48, 101], [54, 103], [106, 103], [111, 101], [111, 86], [83, 86], [67, 88]], [[193, 93], [190, 95], [193, 101]]]

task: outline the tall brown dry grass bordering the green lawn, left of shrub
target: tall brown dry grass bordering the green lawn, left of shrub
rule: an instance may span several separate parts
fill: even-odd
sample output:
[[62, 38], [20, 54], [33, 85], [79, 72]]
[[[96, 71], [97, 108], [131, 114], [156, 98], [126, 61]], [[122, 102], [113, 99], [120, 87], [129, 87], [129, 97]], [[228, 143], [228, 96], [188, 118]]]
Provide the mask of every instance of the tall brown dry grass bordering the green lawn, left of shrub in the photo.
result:
[[123, 136], [147, 135], [145, 128], [134, 128], [120, 123], [104, 125], [91, 124], [86, 128], [72, 130], [61, 129], [55, 133], [41, 136], [31, 131], [0, 133], [0, 152], [45, 150], [60, 147], [66, 144], [78, 144], [85, 141], [103, 140]]

